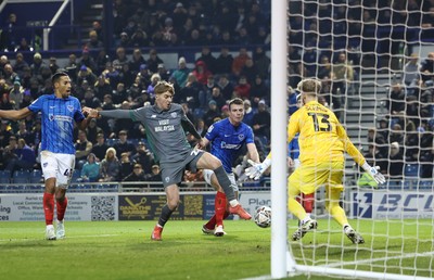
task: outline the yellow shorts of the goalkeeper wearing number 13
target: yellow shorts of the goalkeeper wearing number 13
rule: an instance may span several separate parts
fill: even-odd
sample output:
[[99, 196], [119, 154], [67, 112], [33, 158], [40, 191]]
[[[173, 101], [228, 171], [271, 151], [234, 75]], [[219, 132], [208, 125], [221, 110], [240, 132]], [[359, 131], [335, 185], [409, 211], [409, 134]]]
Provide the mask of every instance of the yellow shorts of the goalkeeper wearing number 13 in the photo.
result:
[[303, 164], [288, 178], [288, 190], [290, 195], [314, 193], [319, 187], [326, 190], [342, 191], [342, 178], [344, 177], [344, 162], [320, 163], [316, 166], [304, 166]]

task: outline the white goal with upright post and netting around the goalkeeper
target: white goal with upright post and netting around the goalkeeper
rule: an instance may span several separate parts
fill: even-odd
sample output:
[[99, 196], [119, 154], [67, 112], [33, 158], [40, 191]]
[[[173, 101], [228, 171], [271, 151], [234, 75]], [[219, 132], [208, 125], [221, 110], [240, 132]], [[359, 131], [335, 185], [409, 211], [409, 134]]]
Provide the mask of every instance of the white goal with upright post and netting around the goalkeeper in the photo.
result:
[[[411, 128], [399, 130], [393, 126], [398, 122], [407, 125], [410, 118], [391, 116], [388, 99], [392, 88], [404, 82], [404, 67], [410, 56], [416, 55], [422, 62], [434, 50], [434, 43], [425, 41], [427, 31], [434, 33], [434, 29], [426, 29], [423, 20], [430, 4], [426, 0], [271, 1], [271, 147], [275, 151], [271, 278], [296, 275], [347, 279], [434, 278], [433, 177], [420, 178], [422, 167], [427, 164], [432, 168], [432, 163], [411, 157], [411, 149], [422, 154], [433, 147], [432, 143], [412, 147], [406, 142]], [[388, 178], [378, 189], [367, 178], [361, 180], [359, 167], [352, 158], [346, 160], [341, 204], [349, 224], [365, 238], [363, 244], [353, 244], [324, 211], [323, 191], [316, 194], [312, 212], [318, 229], [299, 241], [292, 241], [297, 221], [286, 213], [286, 153], [281, 152], [286, 151], [286, 87], [294, 87], [302, 78], [324, 79], [320, 68], [335, 63], [340, 53], [345, 54], [345, 64], [354, 73], [352, 77], [345, 74], [335, 85], [326, 82], [330, 88], [323, 92], [323, 101], [339, 115], [349, 138], [363, 154], [372, 144], [368, 133], [373, 128], [388, 133], [403, 132], [405, 140], [398, 149], [408, 157], [391, 160], [390, 148], [395, 144], [388, 140], [379, 144], [387, 153], [386, 161], [401, 164], [403, 176]], [[322, 61], [322, 56], [329, 61]], [[433, 85], [425, 86], [434, 94]], [[412, 112], [411, 106], [422, 109], [424, 103], [432, 102], [432, 99], [422, 100], [422, 93], [414, 99], [417, 85], [403, 87], [407, 90], [403, 100], [406, 113]], [[419, 140], [425, 136], [422, 130], [432, 133], [434, 106], [430, 112], [432, 115], [414, 113], [411, 116], [420, 122], [418, 130], [410, 131], [420, 132]], [[387, 125], [381, 127], [379, 120], [385, 117]]]

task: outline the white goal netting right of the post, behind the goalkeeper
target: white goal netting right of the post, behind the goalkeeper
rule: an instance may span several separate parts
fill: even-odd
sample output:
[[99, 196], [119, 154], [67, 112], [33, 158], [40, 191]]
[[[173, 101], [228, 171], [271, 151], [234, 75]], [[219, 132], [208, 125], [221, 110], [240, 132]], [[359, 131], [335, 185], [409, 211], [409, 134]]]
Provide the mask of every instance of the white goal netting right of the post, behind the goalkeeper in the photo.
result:
[[289, 85], [321, 79], [320, 101], [387, 178], [376, 186], [347, 157], [341, 204], [365, 244], [330, 217], [320, 188], [318, 229], [292, 241], [289, 219], [295, 270], [434, 278], [434, 1], [290, 0], [288, 37]]

